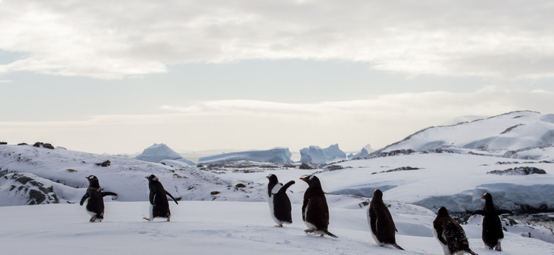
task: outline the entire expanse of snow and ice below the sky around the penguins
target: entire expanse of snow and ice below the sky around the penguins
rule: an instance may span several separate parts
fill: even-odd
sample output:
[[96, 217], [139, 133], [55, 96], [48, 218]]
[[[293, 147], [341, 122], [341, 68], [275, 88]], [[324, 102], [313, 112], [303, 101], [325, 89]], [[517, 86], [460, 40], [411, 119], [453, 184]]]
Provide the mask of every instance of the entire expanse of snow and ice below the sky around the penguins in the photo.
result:
[[[10, 244], [3, 246], [2, 254], [442, 254], [431, 230], [439, 206], [451, 213], [481, 209], [484, 201], [479, 197], [488, 192], [498, 208], [554, 208], [554, 147], [548, 145], [554, 137], [553, 120], [551, 114], [523, 111], [428, 128], [377, 152], [415, 150], [394, 157], [345, 161], [338, 145], [311, 146], [305, 149], [313, 153], [301, 157], [340, 162], [310, 170], [290, 163], [287, 148], [218, 154], [205, 157], [206, 162], [226, 164], [197, 167], [177, 157], [161, 164], [60, 147], [0, 145], [0, 239]], [[173, 154], [167, 149], [154, 145], [146, 154]], [[430, 149], [445, 153], [427, 152]], [[96, 164], [107, 160], [109, 166]], [[546, 174], [487, 174], [516, 167], [536, 167]], [[16, 174], [35, 182], [18, 183], [11, 179]], [[89, 223], [78, 205], [88, 185], [85, 176], [91, 174], [104, 191], [119, 194], [116, 200], [105, 198], [101, 223]], [[148, 216], [144, 177], [149, 174], [156, 174], [168, 192], [180, 198], [179, 205], [170, 204], [171, 222], [142, 220]], [[276, 174], [281, 183], [296, 181], [288, 189], [292, 225], [273, 227], [266, 202], [268, 174]], [[316, 174], [327, 192], [329, 230], [339, 239], [303, 232], [300, 208], [308, 186], [298, 179], [308, 174]], [[36, 183], [52, 187], [60, 203], [25, 205], [28, 193], [12, 188], [24, 184], [37, 190]], [[406, 251], [382, 248], [371, 238], [362, 205], [376, 188], [391, 205], [397, 242]], [[505, 222], [502, 254], [554, 255], [550, 230]], [[463, 227], [474, 251], [498, 254], [484, 249], [479, 217], [471, 217]]]

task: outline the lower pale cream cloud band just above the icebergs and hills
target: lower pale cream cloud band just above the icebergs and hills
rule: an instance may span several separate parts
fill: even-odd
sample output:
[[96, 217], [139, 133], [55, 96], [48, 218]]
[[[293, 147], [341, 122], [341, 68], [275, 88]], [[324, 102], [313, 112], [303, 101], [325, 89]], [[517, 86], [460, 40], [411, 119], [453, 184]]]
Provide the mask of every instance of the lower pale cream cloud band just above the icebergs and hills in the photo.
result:
[[0, 133], [14, 137], [13, 143], [55, 141], [70, 149], [98, 153], [135, 152], [155, 142], [193, 150], [276, 146], [296, 150], [339, 143], [342, 149], [354, 151], [368, 143], [376, 149], [384, 147], [459, 116], [518, 110], [552, 113], [553, 100], [551, 91], [489, 86], [471, 93], [386, 94], [366, 100], [319, 103], [198, 101], [161, 106], [165, 110], [162, 114], [0, 122]]

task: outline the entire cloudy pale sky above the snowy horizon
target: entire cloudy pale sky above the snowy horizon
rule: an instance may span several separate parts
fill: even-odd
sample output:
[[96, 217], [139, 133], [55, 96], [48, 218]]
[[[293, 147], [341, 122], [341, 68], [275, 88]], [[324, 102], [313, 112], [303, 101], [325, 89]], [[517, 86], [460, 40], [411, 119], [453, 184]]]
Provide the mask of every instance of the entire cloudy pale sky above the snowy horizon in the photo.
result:
[[0, 0], [0, 141], [379, 149], [554, 113], [551, 1]]

